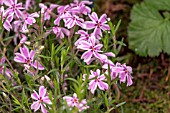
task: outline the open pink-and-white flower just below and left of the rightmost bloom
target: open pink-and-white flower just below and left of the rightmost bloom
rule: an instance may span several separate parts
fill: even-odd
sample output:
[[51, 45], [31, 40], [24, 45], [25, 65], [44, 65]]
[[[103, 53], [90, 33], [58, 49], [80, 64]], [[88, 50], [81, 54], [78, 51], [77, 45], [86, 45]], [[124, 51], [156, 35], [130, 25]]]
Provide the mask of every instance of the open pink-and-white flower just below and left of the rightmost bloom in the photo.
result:
[[[104, 74], [100, 75], [100, 70], [97, 69], [96, 72], [90, 71], [91, 75], [89, 75], [89, 78], [91, 81], [89, 83], [89, 89], [92, 94], [94, 94], [94, 91], [97, 89], [97, 86], [101, 90], [107, 90], [108, 89], [108, 84], [103, 82], [106, 80], [106, 77]], [[85, 78], [85, 77], [84, 77]]]

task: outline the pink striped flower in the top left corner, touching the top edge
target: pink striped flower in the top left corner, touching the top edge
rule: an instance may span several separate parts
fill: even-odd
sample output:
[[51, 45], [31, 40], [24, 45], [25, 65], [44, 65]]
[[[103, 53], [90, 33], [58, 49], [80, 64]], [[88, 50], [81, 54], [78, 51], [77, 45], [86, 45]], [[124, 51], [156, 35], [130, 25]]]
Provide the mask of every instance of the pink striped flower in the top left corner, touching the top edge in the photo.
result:
[[17, 4], [17, 0], [5, 0], [4, 4], [8, 6], [8, 9], [6, 9], [8, 14], [15, 14], [17, 18], [21, 18], [22, 12], [20, 10], [24, 9], [22, 3]]

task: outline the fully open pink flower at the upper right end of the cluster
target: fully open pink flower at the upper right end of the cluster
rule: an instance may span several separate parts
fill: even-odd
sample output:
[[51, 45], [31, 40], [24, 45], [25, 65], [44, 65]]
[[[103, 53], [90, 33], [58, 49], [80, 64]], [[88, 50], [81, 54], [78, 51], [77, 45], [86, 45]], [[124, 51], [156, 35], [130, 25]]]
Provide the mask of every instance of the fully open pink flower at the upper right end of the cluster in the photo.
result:
[[91, 15], [89, 14], [89, 17], [92, 21], [86, 21], [86, 29], [94, 29], [94, 35], [100, 39], [100, 36], [102, 36], [101, 29], [103, 31], [110, 30], [109, 25], [107, 25], [107, 15], [103, 14], [100, 18], [98, 18], [97, 14], [93, 12]]

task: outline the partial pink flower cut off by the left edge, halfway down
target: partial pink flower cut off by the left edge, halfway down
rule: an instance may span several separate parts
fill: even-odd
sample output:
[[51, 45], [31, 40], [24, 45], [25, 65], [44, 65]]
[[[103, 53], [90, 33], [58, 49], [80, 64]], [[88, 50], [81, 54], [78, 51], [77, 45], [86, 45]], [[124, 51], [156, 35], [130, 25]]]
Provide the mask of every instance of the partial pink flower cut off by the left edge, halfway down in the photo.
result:
[[8, 79], [11, 79], [11, 76], [13, 74], [11, 73], [11, 71], [8, 68], [4, 67], [5, 60], [6, 60], [5, 57], [2, 57], [0, 59], [0, 74], [7, 75]]

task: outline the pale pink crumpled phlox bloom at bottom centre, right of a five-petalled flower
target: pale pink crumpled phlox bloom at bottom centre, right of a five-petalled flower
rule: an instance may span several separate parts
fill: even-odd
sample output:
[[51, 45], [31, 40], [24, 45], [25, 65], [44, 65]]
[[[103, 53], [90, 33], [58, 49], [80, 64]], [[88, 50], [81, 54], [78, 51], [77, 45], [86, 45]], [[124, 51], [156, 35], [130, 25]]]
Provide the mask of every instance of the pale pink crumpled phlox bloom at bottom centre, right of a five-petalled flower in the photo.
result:
[[79, 102], [76, 93], [73, 94], [73, 97], [64, 96], [63, 100], [65, 100], [67, 102], [67, 105], [71, 107], [70, 109], [72, 109], [72, 107], [76, 107], [81, 112], [82, 110], [89, 108], [89, 106], [87, 106], [86, 99], [83, 99], [81, 102]]

